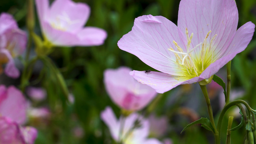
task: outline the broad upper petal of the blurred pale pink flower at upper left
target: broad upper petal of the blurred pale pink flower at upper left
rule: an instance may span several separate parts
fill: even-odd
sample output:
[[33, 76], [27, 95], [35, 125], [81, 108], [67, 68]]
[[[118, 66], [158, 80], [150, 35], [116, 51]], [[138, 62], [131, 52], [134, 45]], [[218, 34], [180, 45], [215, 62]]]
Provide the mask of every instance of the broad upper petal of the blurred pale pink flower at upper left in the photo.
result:
[[58, 19], [60, 23], [67, 21], [68, 31], [81, 30], [90, 15], [90, 7], [85, 3], [72, 0], [55, 0], [50, 8], [50, 21]]

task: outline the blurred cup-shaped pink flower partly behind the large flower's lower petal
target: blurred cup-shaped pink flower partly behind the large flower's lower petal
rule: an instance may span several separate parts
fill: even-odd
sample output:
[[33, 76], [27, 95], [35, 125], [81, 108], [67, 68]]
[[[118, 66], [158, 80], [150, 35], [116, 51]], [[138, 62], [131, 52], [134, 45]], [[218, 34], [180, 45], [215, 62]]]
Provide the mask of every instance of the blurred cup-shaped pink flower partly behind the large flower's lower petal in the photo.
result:
[[138, 83], [129, 75], [130, 68], [120, 67], [117, 70], [108, 69], [104, 72], [104, 84], [112, 101], [126, 110], [140, 110], [155, 96], [156, 91], [144, 84]]

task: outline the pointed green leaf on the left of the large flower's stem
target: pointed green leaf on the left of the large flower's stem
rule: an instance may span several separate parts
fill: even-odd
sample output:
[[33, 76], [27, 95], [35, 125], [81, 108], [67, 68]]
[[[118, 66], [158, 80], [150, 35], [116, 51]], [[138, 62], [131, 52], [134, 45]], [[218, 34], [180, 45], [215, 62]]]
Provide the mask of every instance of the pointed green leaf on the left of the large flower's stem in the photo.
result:
[[[211, 125], [211, 121], [208, 120], [207, 118], [201, 118], [201, 119], [199, 119], [199, 120], [195, 120], [194, 122], [188, 124], [188, 125], [182, 130], [182, 132], [185, 131], [187, 128], [189, 128], [189, 127], [191, 127], [191, 126], [193, 126], [193, 125], [195, 125], [195, 124], [199, 124], [199, 123], [200, 123], [201, 126], [204, 127], [205, 129], [207, 129], [207, 130], [212, 131], [213, 133], [215, 133], [215, 132], [214, 132], [214, 129], [213, 129], [212, 125]], [[181, 132], [181, 133], [182, 133], [182, 132]]]

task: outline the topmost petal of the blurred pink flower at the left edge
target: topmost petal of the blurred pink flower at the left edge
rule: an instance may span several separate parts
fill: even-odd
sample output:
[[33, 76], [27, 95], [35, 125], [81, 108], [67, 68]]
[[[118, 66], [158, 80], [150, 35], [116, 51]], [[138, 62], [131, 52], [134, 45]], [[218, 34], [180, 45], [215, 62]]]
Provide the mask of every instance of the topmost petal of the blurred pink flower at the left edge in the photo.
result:
[[16, 21], [13, 19], [11, 14], [8, 13], [1, 13], [0, 15], [0, 35], [5, 33], [10, 29], [16, 29], [18, 25]]

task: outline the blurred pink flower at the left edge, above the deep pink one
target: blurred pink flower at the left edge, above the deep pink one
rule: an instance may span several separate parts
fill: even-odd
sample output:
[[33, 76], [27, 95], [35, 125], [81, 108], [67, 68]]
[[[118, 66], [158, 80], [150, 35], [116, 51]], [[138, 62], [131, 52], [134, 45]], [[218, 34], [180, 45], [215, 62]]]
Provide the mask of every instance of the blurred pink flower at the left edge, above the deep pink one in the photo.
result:
[[0, 73], [3, 72], [2, 64], [6, 64], [5, 74], [12, 78], [20, 76], [13, 58], [21, 55], [26, 49], [27, 37], [24, 31], [18, 28], [12, 15], [0, 14]]

